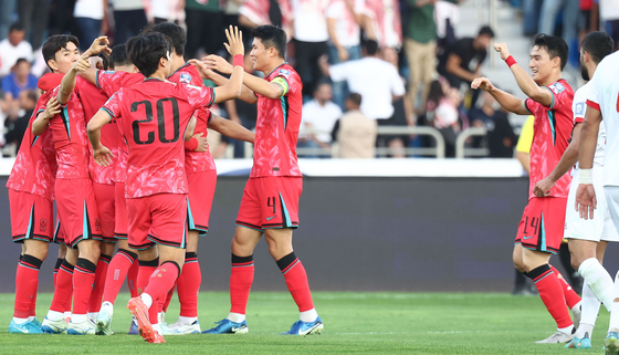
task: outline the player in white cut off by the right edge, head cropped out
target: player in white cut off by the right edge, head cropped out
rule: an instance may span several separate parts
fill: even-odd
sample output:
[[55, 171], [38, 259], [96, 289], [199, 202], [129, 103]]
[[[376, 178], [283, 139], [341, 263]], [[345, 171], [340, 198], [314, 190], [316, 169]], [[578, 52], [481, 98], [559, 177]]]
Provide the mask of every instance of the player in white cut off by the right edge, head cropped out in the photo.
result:
[[[595, 219], [600, 216], [598, 195], [594, 187], [594, 158], [601, 119], [606, 125], [606, 150], [604, 170], [604, 195], [615, 226], [619, 226], [619, 52], [608, 55], [600, 62], [590, 82], [587, 97], [587, 113], [580, 129], [578, 152], [578, 190], [576, 208], [580, 217]], [[615, 276], [611, 295], [610, 324], [606, 336], [606, 354], [619, 353], [619, 273]]]

